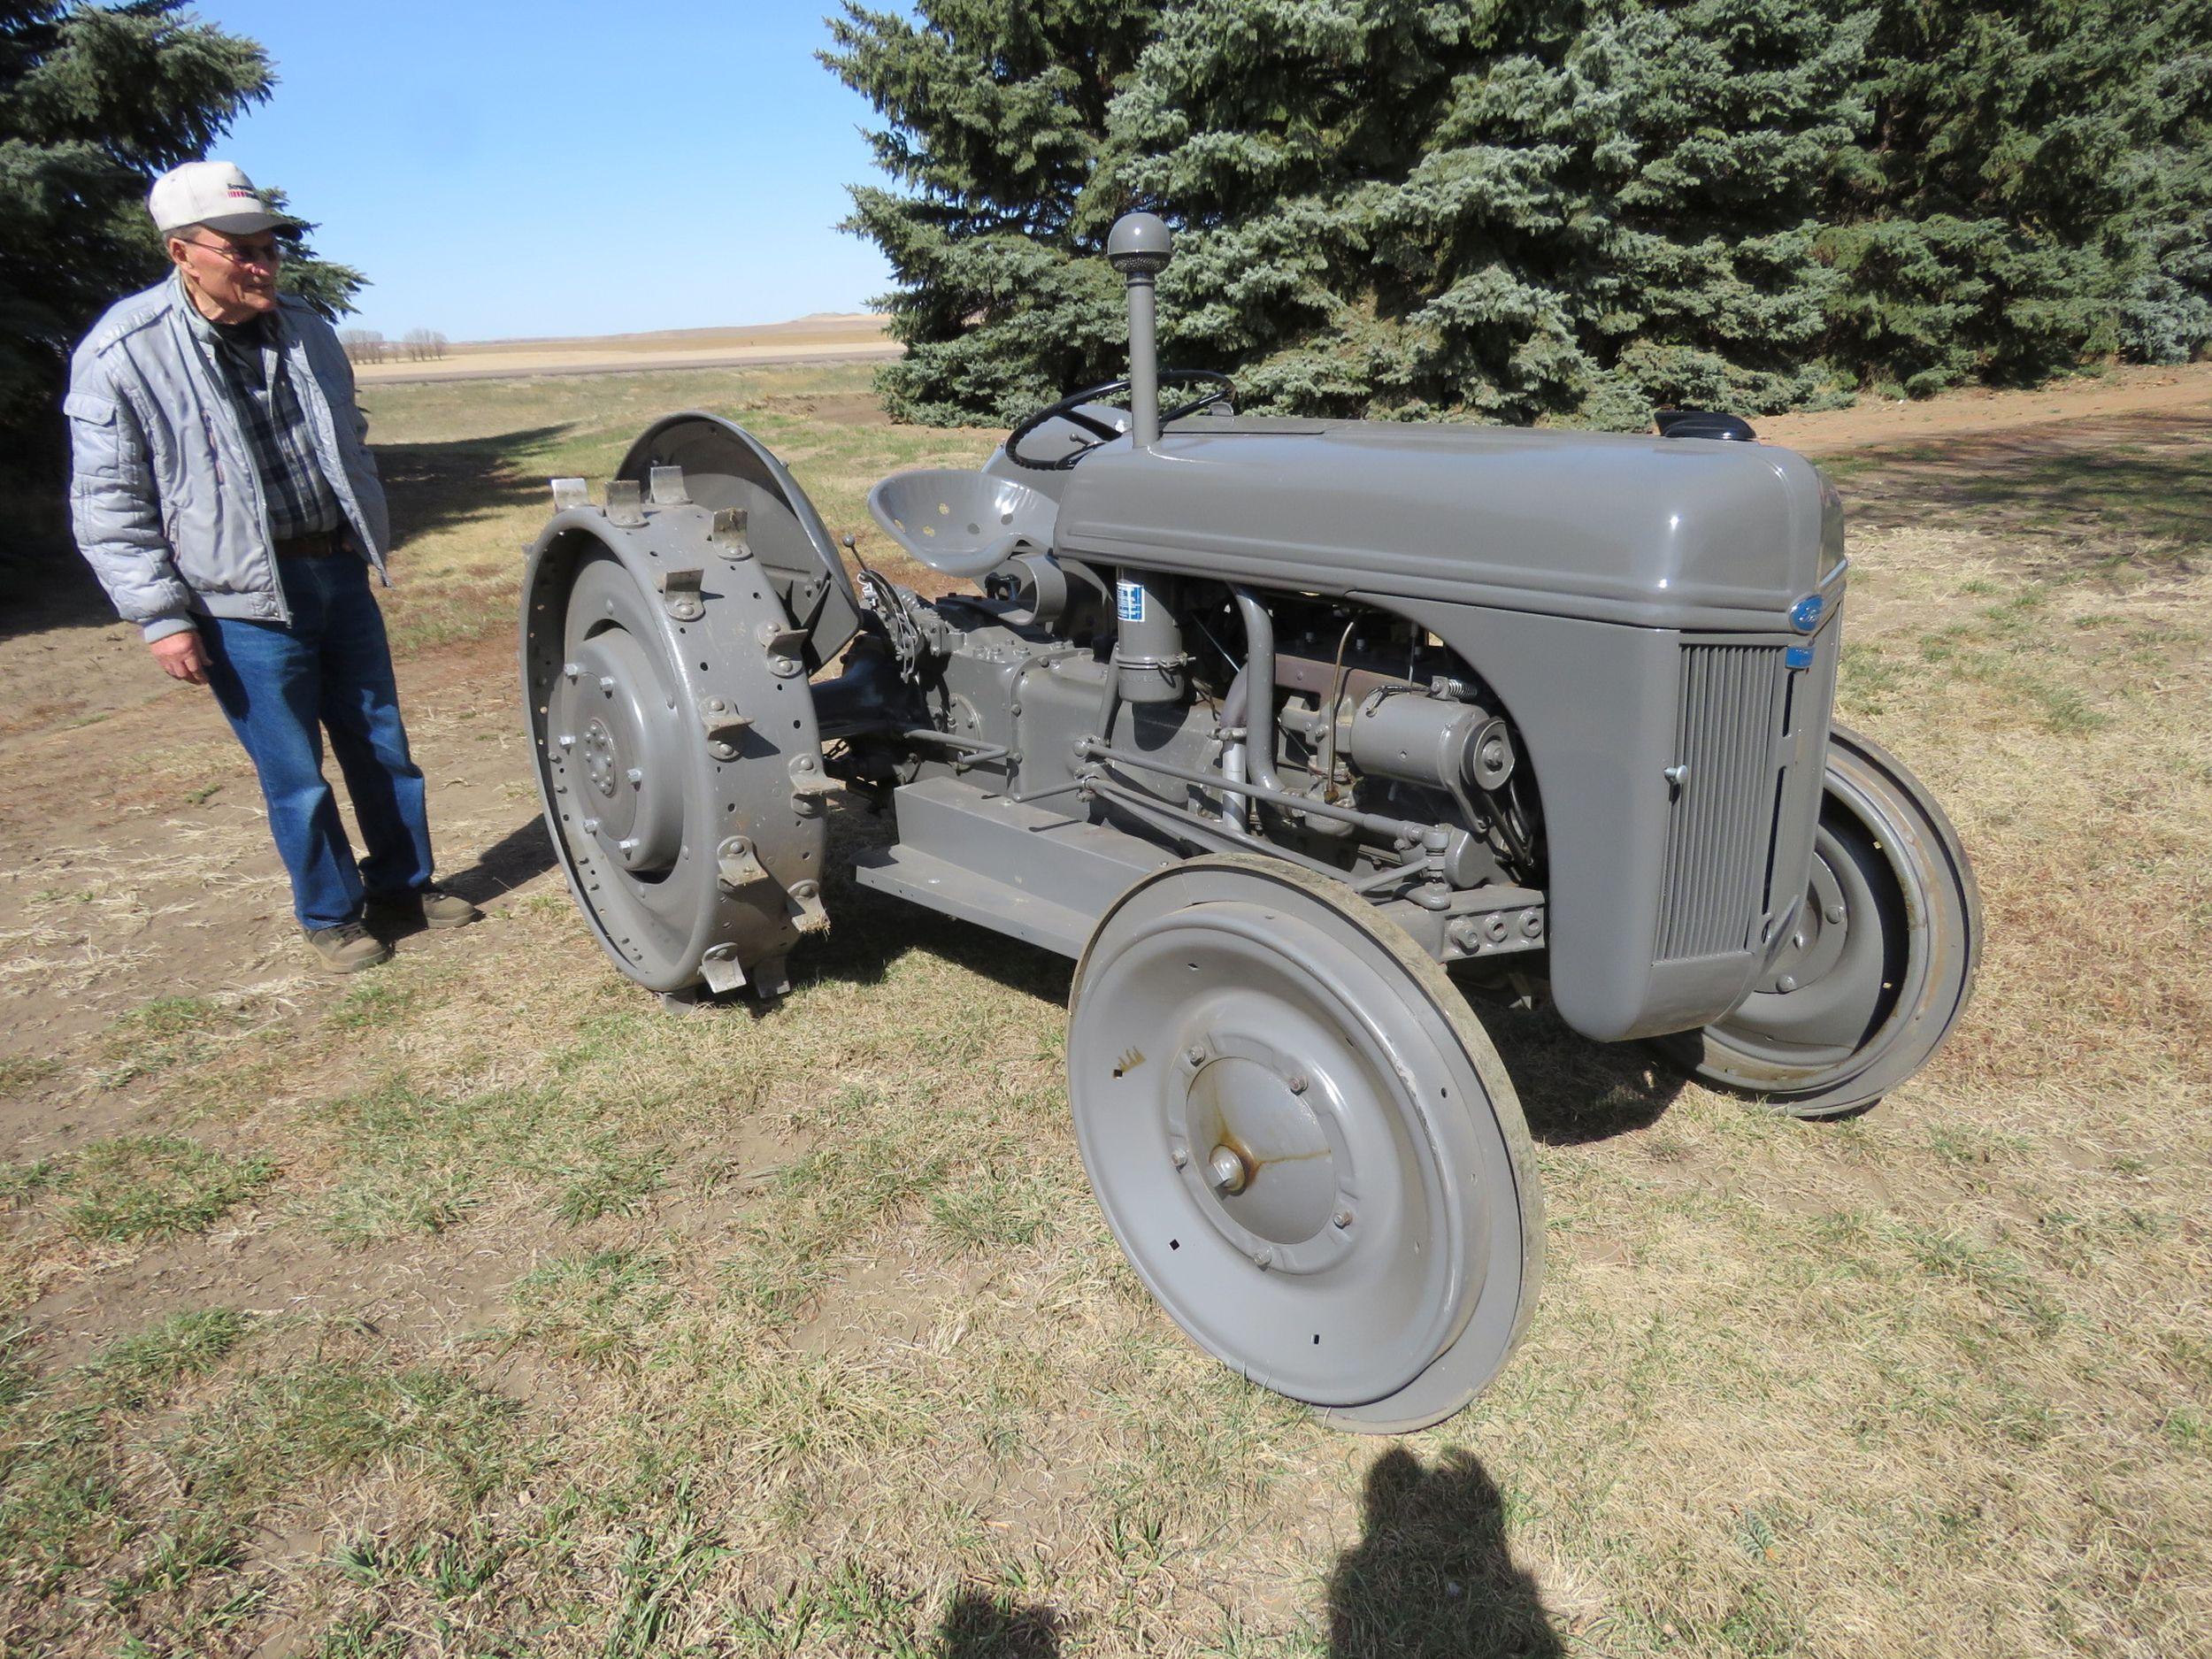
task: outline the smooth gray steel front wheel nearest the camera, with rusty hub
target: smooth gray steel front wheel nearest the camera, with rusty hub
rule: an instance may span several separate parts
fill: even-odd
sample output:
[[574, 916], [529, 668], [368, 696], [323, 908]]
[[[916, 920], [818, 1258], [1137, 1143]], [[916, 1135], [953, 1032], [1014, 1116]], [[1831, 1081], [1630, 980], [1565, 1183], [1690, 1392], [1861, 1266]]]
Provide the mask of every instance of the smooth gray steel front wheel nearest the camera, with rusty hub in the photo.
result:
[[1504, 1365], [1542, 1281], [1520, 1102], [1442, 969], [1336, 883], [1139, 880], [1077, 969], [1068, 1077], [1108, 1225], [1232, 1369], [1405, 1431]]

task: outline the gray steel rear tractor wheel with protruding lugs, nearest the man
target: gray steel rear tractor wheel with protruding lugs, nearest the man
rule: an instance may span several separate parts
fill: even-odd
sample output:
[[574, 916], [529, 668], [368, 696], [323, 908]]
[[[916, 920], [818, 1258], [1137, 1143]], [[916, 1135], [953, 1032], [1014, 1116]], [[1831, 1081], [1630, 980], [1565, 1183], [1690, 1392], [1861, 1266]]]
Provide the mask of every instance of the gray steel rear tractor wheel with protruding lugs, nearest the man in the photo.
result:
[[531, 549], [540, 803], [580, 909], [639, 984], [774, 993], [827, 925], [799, 637], [750, 546], [690, 500], [573, 507]]

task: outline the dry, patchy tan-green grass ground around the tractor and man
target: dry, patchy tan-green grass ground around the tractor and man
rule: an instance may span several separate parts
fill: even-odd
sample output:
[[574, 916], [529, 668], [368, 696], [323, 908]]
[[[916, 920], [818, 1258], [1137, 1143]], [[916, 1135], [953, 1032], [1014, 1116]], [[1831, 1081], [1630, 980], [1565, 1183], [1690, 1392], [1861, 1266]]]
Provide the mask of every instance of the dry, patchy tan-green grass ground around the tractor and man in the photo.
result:
[[1405, 1440], [1148, 1303], [1057, 958], [834, 883], [790, 1000], [666, 1015], [551, 874], [511, 684], [544, 476], [703, 405], [843, 531], [991, 434], [883, 422], [863, 367], [372, 389], [400, 679], [489, 920], [358, 982], [303, 971], [204, 697], [73, 575], [18, 588], [0, 1652], [2212, 1652], [2194, 387], [1832, 458], [1845, 717], [1964, 834], [1978, 1000], [1843, 1124], [1484, 1015], [1551, 1274], [1498, 1387]]

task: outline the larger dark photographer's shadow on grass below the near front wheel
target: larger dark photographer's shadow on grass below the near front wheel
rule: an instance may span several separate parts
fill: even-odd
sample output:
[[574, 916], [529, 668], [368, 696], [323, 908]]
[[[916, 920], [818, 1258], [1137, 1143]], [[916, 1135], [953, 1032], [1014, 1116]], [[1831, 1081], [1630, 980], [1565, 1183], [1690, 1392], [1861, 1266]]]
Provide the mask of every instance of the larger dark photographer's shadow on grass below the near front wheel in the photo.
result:
[[1498, 1484], [1469, 1451], [1391, 1447], [1367, 1471], [1360, 1542], [1329, 1573], [1329, 1659], [1557, 1659], [1513, 1564]]

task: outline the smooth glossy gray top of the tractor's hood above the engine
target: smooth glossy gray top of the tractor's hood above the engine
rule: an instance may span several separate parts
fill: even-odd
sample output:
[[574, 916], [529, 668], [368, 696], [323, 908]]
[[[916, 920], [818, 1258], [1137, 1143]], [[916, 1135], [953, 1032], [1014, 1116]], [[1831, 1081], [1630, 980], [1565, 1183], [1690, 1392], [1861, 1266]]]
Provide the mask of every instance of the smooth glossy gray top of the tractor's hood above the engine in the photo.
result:
[[1194, 418], [1155, 449], [1119, 438], [1084, 456], [1055, 551], [1327, 595], [1774, 630], [1840, 564], [1843, 515], [1803, 456], [1756, 442]]

